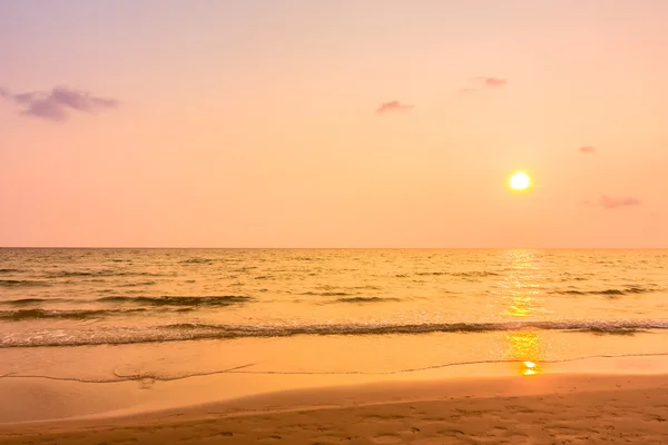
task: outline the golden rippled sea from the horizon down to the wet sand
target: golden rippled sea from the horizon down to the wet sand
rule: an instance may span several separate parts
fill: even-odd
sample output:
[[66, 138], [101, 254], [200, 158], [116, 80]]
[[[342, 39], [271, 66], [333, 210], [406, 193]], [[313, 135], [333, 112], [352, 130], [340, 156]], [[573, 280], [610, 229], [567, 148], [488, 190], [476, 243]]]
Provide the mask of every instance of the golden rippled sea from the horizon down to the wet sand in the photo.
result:
[[4, 248], [0, 376], [538, 370], [666, 355], [667, 270], [668, 250]]

